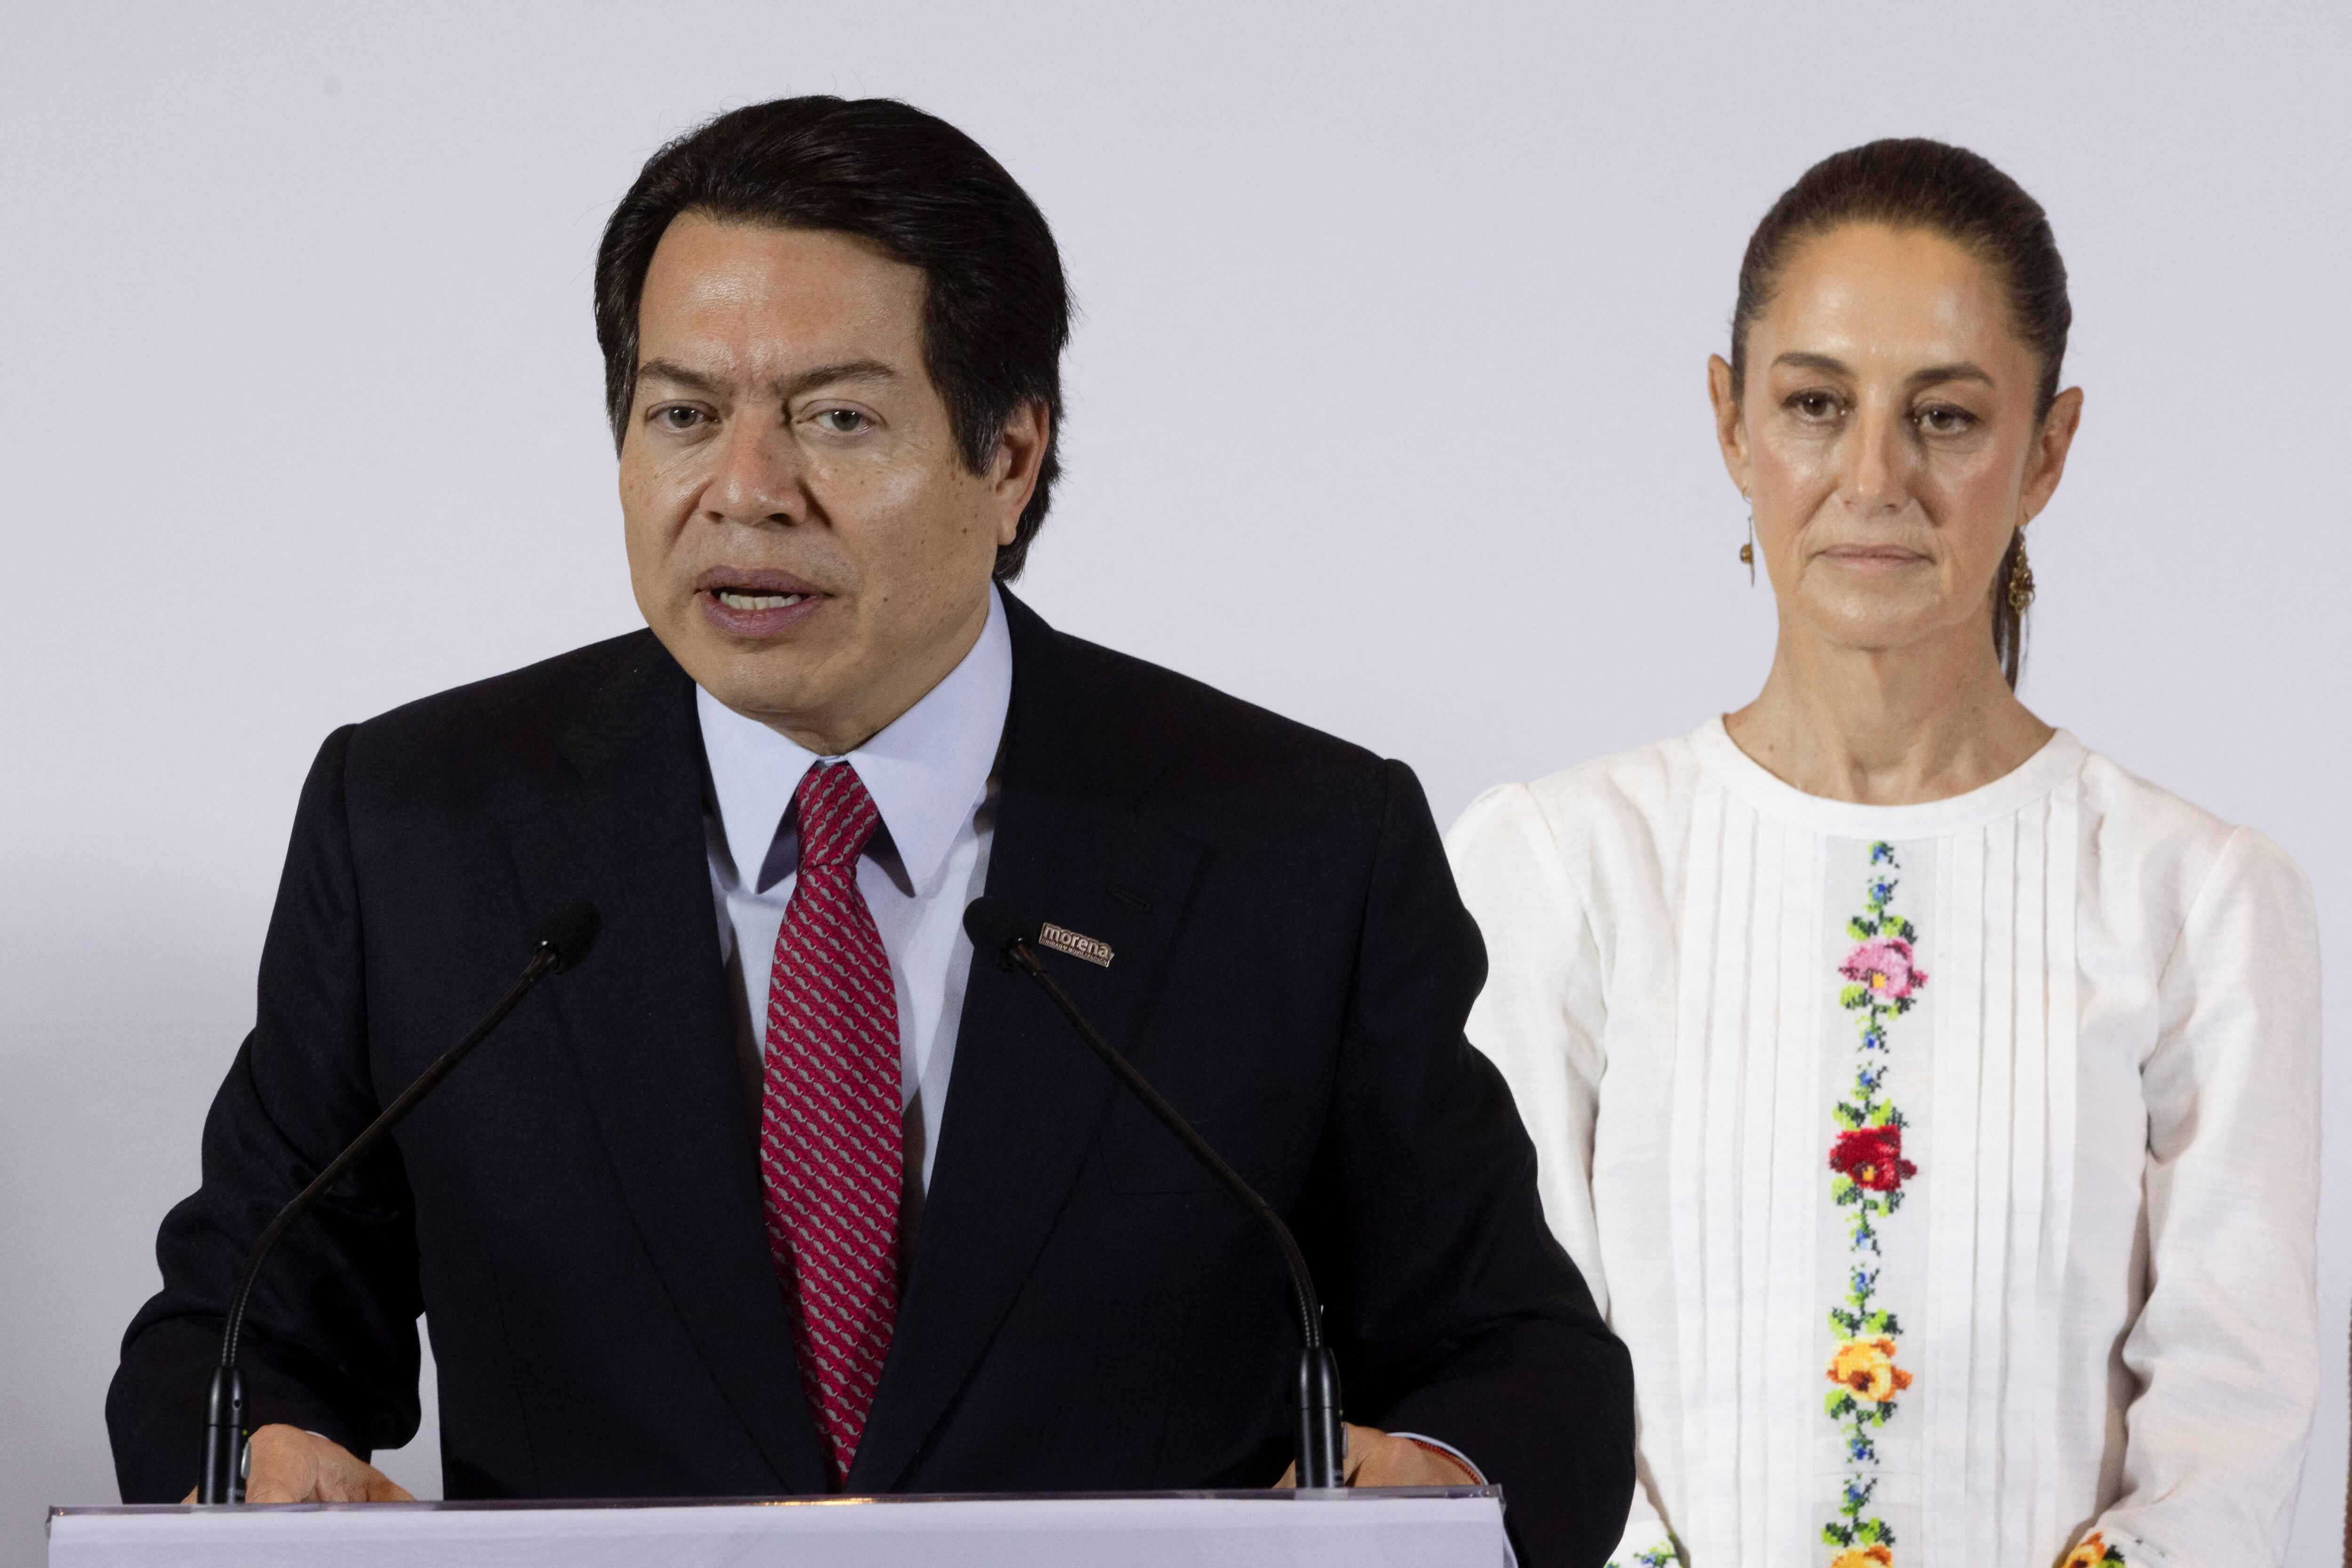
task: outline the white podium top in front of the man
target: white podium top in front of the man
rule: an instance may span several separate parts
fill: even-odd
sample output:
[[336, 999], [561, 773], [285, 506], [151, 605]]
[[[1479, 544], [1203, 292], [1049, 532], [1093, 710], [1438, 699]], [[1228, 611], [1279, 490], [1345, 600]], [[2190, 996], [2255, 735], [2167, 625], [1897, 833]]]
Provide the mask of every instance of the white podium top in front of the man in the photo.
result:
[[1498, 1568], [1494, 1486], [49, 1509], [49, 1568]]

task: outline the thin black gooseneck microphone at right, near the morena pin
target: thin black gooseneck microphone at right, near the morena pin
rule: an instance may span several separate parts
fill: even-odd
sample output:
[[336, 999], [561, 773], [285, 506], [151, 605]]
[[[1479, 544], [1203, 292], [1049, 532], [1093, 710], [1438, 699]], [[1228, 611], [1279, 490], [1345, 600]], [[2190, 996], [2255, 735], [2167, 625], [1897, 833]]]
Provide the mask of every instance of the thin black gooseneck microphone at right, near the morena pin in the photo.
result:
[[1221, 1180], [1232, 1197], [1242, 1199], [1249, 1213], [1275, 1232], [1275, 1241], [1282, 1246], [1282, 1262], [1291, 1269], [1291, 1309], [1298, 1314], [1298, 1486], [1301, 1488], [1334, 1488], [1341, 1486], [1341, 1460], [1348, 1453], [1348, 1439], [1341, 1422], [1341, 1399], [1338, 1399], [1338, 1359], [1322, 1338], [1322, 1298], [1315, 1295], [1315, 1276], [1308, 1274], [1305, 1253], [1298, 1251], [1298, 1239], [1291, 1237], [1291, 1227], [1282, 1222], [1282, 1215], [1256, 1194], [1256, 1190], [1242, 1180], [1240, 1171], [1225, 1164], [1225, 1159], [1209, 1147], [1209, 1140], [1192, 1131], [1192, 1124], [1178, 1114], [1174, 1105], [1160, 1098], [1160, 1091], [1150, 1086], [1134, 1065], [1112, 1048], [1108, 1039], [1096, 1032], [1087, 1016], [1077, 1011], [1068, 992], [1054, 983], [1054, 976], [1044, 971], [1037, 961], [1037, 938], [1035, 929], [1023, 926], [1014, 919], [1011, 910], [1002, 898], [974, 898], [964, 905], [964, 933], [971, 936], [974, 952], [993, 952], [1000, 969], [1018, 969], [1037, 990], [1061, 1009], [1061, 1016], [1070, 1020], [1077, 1037], [1087, 1041], [1110, 1074], [1127, 1086], [1136, 1100], [1143, 1103], [1152, 1117], [1160, 1119], [1176, 1143], [1185, 1147], [1192, 1159], [1197, 1159], [1209, 1175]]

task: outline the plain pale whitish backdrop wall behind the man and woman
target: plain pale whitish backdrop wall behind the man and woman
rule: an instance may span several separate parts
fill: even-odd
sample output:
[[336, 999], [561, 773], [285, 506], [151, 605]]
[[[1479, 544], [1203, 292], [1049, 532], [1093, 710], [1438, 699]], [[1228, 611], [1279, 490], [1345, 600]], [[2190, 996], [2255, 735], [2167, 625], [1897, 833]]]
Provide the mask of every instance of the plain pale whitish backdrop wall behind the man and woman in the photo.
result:
[[[2025, 698], [2277, 837], [2352, 1039], [2352, 9], [0, 0], [0, 1566], [101, 1401], [346, 719], [637, 625], [588, 277], [637, 165], [790, 92], [976, 134], [1061, 235], [1021, 592], [1479, 788], [1743, 703], [1708, 428], [1748, 228], [1884, 134], [2051, 209], [2089, 390]], [[2343, 1540], [2352, 1079], [2328, 1074]], [[393, 1474], [437, 1486], [426, 1439]]]

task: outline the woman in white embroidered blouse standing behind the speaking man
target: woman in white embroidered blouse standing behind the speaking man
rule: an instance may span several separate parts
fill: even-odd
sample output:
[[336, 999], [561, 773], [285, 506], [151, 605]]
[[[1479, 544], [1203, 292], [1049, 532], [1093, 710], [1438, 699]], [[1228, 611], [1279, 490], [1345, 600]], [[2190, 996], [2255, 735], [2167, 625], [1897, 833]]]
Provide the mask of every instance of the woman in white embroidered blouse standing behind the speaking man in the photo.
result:
[[1449, 837], [1470, 1034], [1635, 1356], [1621, 1568], [2281, 1559], [2312, 898], [2016, 698], [2067, 322], [1983, 158], [1813, 167], [1710, 362], [1780, 616], [1762, 693]]

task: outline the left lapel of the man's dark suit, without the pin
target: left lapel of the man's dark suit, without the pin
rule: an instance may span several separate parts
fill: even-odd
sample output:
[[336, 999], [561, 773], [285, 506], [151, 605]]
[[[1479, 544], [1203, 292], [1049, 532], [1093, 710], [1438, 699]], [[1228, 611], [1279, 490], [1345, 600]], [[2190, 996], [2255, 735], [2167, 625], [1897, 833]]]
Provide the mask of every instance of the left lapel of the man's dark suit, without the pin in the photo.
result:
[[[644, 635], [557, 724], [579, 780], [515, 823], [534, 907], [590, 898], [600, 952], [550, 987], [628, 1215], [781, 1490], [826, 1490], [767, 1251], [703, 839], [694, 686]], [[616, 1347], [626, 1354], [626, 1347]]]

